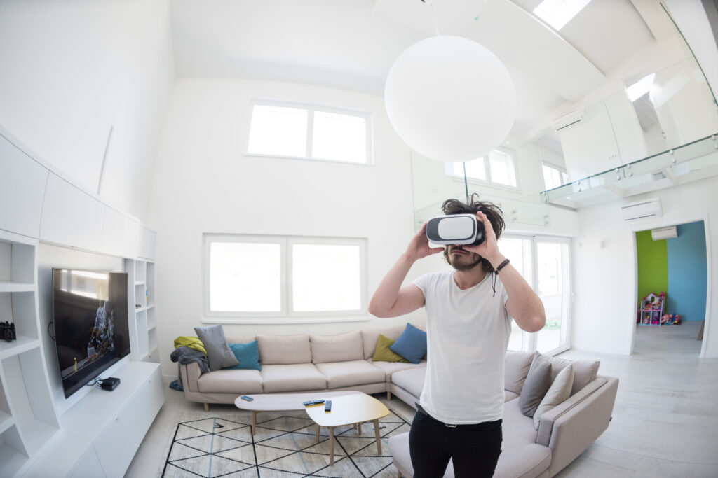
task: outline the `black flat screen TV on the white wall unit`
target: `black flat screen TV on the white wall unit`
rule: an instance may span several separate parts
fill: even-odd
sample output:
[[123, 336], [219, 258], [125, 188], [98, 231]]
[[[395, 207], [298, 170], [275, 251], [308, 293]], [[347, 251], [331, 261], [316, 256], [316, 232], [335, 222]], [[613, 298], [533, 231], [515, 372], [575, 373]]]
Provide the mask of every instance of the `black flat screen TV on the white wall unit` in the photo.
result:
[[130, 353], [127, 273], [52, 269], [52, 317], [65, 398]]

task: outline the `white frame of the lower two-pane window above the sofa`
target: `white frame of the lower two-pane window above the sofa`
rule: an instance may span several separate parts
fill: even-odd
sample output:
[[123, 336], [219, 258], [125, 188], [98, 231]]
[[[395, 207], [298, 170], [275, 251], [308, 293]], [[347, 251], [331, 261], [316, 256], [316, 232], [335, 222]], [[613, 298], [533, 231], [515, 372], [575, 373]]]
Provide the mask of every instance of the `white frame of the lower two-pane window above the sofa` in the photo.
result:
[[[217, 311], [210, 309], [210, 249], [215, 242], [241, 242], [249, 244], [279, 244], [281, 264], [281, 310]], [[208, 323], [311, 323], [368, 320], [368, 267], [365, 237], [335, 236], [280, 236], [259, 234], [202, 234], [202, 322]], [[348, 245], [359, 247], [360, 308], [356, 310], [294, 311], [292, 246], [294, 244]]]

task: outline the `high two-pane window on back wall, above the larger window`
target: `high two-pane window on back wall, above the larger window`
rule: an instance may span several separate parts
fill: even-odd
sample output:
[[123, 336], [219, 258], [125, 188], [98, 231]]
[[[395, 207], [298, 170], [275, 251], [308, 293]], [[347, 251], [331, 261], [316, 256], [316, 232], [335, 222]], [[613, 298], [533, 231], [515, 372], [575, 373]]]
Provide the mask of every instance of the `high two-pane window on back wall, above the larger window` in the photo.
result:
[[368, 164], [370, 116], [329, 107], [253, 102], [246, 153]]

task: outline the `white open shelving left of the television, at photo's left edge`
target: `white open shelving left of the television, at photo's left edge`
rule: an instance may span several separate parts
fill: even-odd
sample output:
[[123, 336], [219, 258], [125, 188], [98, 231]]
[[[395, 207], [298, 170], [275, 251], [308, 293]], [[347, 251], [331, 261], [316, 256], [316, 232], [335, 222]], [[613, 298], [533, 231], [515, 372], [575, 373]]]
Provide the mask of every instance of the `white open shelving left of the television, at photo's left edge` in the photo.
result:
[[19, 475], [60, 430], [39, 339], [37, 239], [0, 231], [0, 476]]

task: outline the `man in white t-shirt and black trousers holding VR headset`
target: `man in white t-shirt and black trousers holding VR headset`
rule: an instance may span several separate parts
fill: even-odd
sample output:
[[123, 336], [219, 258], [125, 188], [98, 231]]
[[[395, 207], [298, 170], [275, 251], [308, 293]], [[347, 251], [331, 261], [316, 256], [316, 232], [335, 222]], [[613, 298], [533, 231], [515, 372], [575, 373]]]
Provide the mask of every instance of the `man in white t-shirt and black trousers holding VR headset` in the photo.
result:
[[[485, 241], [429, 247], [426, 224], [379, 284], [369, 304], [377, 317], [396, 317], [426, 307], [428, 362], [424, 389], [409, 434], [414, 477], [443, 477], [453, 459], [454, 474], [491, 477], [501, 453], [503, 365], [511, 320], [527, 332], [546, 323], [544, 305], [498, 249], [504, 221], [498, 206], [456, 199], [444, 214], [475, 214]], [[411, 265], [444, 252], [454, 268], [402, 286]]]

